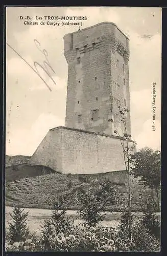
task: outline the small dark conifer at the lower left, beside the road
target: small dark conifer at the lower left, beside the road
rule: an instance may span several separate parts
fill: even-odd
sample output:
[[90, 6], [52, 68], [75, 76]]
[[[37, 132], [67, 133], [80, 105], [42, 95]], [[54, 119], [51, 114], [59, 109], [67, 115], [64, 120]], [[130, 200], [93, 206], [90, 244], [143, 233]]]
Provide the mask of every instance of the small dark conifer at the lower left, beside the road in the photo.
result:
[[29, 237], [30, 231], [27, 226], [28, 214], [28, 212], [25, 212], [25, 209], [20, 207], [14, 207], [12, 214], [10, 213], [12, 222], [9, 222], [8, 239], [11, 244], [25, 241]]

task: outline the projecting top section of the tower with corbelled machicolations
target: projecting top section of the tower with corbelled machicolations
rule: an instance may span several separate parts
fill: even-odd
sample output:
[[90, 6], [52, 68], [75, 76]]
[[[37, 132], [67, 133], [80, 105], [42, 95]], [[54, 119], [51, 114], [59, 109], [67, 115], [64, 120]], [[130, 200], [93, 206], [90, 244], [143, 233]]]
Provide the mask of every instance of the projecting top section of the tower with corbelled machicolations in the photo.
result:
[[114, 23], [103, 22], [89, 28], [81, 29], [64, 36], [64, 54], [68, 61], [75, 51], [83, 53], [85, 47], [91, 51], [105, 43], [110, 44], [112, 51], [122, 52], [129, 60], [129, 38]]

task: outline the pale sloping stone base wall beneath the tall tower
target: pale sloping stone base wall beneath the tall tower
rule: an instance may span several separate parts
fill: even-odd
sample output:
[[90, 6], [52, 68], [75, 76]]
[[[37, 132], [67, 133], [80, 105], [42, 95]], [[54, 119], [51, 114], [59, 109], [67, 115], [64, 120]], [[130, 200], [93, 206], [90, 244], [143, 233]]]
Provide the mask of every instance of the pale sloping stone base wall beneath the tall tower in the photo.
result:
[[120, 139], [62, 126], [47, 133], [29, 164], [44, 165], [64, 174], [96, 174], [125, 169]]

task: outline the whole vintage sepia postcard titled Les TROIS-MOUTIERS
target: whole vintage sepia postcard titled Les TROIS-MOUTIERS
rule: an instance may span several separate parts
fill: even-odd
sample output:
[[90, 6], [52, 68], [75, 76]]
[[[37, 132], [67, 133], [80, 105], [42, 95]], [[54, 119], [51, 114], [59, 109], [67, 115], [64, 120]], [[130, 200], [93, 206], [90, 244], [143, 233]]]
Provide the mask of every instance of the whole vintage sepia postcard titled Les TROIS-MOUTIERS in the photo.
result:
[[5, 250], [160, 251], [161, 8], [5, 12]]

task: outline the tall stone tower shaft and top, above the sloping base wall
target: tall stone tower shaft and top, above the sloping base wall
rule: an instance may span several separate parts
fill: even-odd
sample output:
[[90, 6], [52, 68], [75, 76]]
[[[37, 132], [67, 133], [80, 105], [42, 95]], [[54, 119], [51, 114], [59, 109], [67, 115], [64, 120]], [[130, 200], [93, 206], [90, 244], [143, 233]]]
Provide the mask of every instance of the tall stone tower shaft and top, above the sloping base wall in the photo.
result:
[[[130, 110], [129, 38], [110, 22], [64, 36], [66, 127], [123, 135], [118, 105]], [[126, 116], [130, 131], [130, 112]]]

